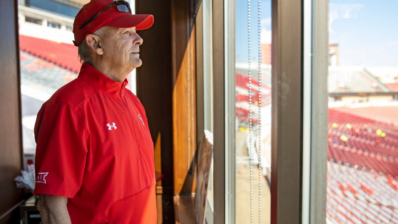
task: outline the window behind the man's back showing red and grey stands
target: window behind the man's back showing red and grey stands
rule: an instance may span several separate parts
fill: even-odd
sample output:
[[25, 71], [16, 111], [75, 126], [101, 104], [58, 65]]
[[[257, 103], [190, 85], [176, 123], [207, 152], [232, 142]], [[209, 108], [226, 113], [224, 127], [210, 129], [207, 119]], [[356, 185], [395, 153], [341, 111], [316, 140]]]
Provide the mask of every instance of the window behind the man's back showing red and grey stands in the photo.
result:
[[[25, 169], [27, 164], [34, 163], [36, 143], [33, 128], [37, 112], [57, 89], [78, 76], [81, 66], [77, 57], [77, 47], [72, 45], [72, 29], [60, 29], [62, 25], [71, 28], [73, 20], [67, 16], [48, 14], [59, 10], [67, 12], [70, 6], [50, 0], [30, 0], [26, 1], [26, 6], [34, 7], [36, 10], [19, 7], [18, 11], [20, 18], [25, 18], [19, 20]], [[74, 10], [78, 11], [79, 8]], [[43, 22], [47, 26], [36, 25]]]

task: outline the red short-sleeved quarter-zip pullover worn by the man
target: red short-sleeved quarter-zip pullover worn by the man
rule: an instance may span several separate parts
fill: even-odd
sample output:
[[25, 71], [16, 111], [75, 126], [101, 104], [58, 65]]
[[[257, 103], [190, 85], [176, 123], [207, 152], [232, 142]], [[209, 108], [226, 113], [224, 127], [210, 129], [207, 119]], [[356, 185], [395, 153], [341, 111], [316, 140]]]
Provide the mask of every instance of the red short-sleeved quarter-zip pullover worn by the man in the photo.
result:
[[126, 85], [84, 63], [37, 114], [34, 194], [68, 197], [73, 224], [156, 223], [153, 142]]

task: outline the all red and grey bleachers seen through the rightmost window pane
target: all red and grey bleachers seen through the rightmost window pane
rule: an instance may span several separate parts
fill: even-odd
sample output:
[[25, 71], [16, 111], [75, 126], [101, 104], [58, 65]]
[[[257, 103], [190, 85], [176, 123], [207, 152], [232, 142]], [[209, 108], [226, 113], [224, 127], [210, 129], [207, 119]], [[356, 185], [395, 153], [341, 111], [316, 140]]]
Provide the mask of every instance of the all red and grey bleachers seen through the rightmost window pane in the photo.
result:
[[328, 223], [398, 223], [397, 140], [392, 123], [329, 108]]

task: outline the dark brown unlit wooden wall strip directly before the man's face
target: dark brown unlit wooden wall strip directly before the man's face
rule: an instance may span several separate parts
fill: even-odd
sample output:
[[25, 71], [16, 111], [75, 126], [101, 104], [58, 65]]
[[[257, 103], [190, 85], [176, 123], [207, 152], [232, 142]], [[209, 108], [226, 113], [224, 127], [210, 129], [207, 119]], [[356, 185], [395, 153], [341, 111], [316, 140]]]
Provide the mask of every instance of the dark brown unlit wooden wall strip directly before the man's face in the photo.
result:
[[[174, 173], [172, 128], [172, 32], [170, 1], [136, 0], [137, 14], [152, 14], [154, 24], [137, 33], [144, 40], [140, 45], [142, 65], [137, 68], [137, 96], [145, 108], [148, 127], [154, 142], [155, 170], [164, 178], [156, 183], [162, 187], [162, 214], [165, 223], [174, 222]], [[154, 7], [156, 5], [156, 7]], [[159, 208], [159, 206], [158, 206]]]

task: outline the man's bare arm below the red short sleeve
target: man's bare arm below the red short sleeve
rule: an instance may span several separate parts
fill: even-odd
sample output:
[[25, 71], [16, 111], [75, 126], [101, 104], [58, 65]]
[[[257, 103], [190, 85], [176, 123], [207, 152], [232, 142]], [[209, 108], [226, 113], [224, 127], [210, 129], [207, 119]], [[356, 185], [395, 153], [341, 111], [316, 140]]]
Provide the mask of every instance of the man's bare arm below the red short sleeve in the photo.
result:
[[57, 195], [40, 195], [37, 209], [43, 224], [72, 224], [66, 203], [67, 197]]

